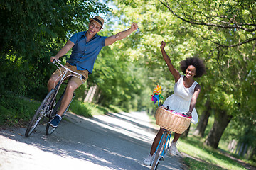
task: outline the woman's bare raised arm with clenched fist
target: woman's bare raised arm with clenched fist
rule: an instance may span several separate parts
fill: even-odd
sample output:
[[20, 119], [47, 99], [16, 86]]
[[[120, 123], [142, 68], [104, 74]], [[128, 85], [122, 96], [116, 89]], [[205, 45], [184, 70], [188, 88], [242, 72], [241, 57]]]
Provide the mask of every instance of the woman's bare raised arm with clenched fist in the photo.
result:
[[166, 62], [171, 74], [173, 74], [175, 82], [178, 81], [178, 79], [181, 77], [181, 74], [179, 74], [178, 70], [174, 68], [174, 65], [171, 63], [170, 57], [166, 54], [166, 51], [164, 50], [164, 47], [166, 46], [166, 42], [161, 42], [161, 54], [164, 57], [164, 61]]

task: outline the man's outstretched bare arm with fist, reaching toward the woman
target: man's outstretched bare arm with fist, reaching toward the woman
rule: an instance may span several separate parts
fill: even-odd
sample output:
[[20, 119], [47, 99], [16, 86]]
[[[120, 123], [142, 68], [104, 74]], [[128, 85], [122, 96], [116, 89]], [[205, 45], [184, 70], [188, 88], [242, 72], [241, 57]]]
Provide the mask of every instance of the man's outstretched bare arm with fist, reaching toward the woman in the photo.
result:
[[137, 30], [137, 28], [138, 28], [137, 23], [132, 23], [131, 28], [129, 28], [128, 30], [124, 30], [122, 32], [117, 33], [116, 35], [107, 37], [105, 39], [105, 46], [112, 45], [117, 40], [122, 40], [123, 38], [126, 38], [128, 35], [134, 32], [134, 30]]

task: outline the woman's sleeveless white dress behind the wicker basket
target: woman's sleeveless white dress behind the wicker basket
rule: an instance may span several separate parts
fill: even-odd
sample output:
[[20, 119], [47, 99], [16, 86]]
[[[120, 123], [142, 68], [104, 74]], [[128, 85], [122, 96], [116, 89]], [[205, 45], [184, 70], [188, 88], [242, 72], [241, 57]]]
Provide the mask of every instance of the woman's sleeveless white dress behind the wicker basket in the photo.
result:
[[[193, 96], [196, 84], [196, 81], [193, 84], [186, 88], [183, 84], [183, 75], [178, 79], [174, 86], [174, 94], [166, 98], [164, 101], [164, 106], [169, 106], [169, 110], [177, 111], [178, 113], [187, 113], [189, 110], [189, 106], [191, 103], [191, 98]], [[192, 119], [191, 123], [195, 124], [198, 123], [198, 114], [196, 109], [193, 108], [192, 111]]]

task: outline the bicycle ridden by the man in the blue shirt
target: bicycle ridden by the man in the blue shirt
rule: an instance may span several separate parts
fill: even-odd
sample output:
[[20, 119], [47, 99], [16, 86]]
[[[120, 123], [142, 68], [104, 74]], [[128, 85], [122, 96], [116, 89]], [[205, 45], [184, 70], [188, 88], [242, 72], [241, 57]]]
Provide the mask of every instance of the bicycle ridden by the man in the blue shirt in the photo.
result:
[[[59, 77], [60, 80], [58, 81], [58, 84], [55, 86], [55, 88], [50, 90], [50, 92], [43, 99], [39, 108], [36, 110], [35, 115], [33, 115], [33, 118], [31, 119], [31, 122], [28, 124], [28, 127], [25, 132], [26, 137], [29, 137], [31, 135], [31, 133], [33, 132], [33, 130], [36, 129], [37, 125], [39, 124], [39, 122], [42, 118], [43, 119], [48, 118], [48, 123], [46, 125], [46, 135], [51, 135], [55, 131], [56, 128], [53, 128], [52, 126], [50, 126], [49, 122], [50, 122], [50, 120], [52, 120], [55, 117], [55, 114], [57, 113], [58, 109], [60, 108], [60, 104], [61, 104], [61, 101], [65, 94], [66, 87], [63, 91], [63, 94], [61, 94], [60, 98], [58, 98], [57, 94], [58, 94], [58, 92], [60, 90], [60, 86], [62, 84], [68, 84], [68, 82], [63, 82], [63, 81], [65, 81], [65, 79], [67, 79], [67, 77], [69, 77], [69, 79], [70, 79], [72, 76], [78, 77], [81, 81], [82, 81], [82, 79], [85, 80], [85, 77], [82, 74], [73, 72], [72, 70], [63, 66], [63, 64], [60, 64], [60, 60], [53, 60], [53, 64], [55, 64], [55, 66], [57, 66], [58, 69], [60, 69], [60, 67], [63, 67], [65, 69], [65, 71], [60, 74], [60, 77]], [[65, 77], [65, 75], [68, 72], [71, 72], [72, 74]], [[68, 79], [68, 81], [69, 81], [69, 79]], [[74, 97], [75, 97], [75, 92], [73, 94], [73, 98]], [[56, 98], [58, 98], [58, 100], [56, 100]], [[70, 101], [70, 103], [73, 101], [73, 98]], [[65, 111], [62, 115], [62, 118], [65, 115], [66, 111], [68, 111], [70, 103], [69, 103], [68, 107], [65, 109]], [[62, 120], [62, 118], [60, 120]]]

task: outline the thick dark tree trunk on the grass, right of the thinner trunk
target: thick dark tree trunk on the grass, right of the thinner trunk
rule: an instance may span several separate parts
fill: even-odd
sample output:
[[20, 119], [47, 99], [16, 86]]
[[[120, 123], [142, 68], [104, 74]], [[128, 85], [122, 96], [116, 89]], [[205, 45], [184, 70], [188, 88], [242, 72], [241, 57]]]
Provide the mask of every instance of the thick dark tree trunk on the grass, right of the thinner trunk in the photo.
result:
[[228, 115], [227, 111], [217, 111], [215, 113], [215, 120], [213, 123], [213, 128], [210, 130], [208, 137], [205, 141], [206, 145], [213, 147], [215, 149], [218, 148], [218, 144], [220, 142], [220, 138], [223, 135], [225, 128], [227, 128], [228, 123], [233, 118], [232, 115]]

